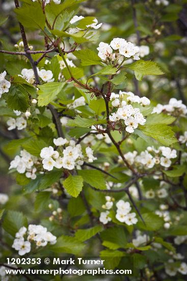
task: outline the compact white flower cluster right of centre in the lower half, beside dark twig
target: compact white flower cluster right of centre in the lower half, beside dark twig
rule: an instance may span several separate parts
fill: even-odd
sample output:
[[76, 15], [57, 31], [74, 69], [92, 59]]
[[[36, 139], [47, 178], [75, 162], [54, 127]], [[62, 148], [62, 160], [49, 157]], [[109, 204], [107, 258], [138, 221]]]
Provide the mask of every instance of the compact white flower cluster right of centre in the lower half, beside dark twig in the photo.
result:
[[127, 225], [136, 224], [138, 219], [136, 218], [136, 213], [130, 213], [131, 207], [129, 202], [119, 200], [116, 203], [117, 214], [116, 219], [120, 222], [124, 222]]

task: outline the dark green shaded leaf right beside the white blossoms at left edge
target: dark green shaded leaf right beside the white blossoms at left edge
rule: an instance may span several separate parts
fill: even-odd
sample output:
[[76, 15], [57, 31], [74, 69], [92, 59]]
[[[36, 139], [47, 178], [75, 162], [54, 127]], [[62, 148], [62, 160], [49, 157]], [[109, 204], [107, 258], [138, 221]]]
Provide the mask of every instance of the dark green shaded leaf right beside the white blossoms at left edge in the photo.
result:
[[21, 85], [12, 85], [5, 98], [8, 106], [12, 110], [25, 112], [29, 108], [28, 93]]

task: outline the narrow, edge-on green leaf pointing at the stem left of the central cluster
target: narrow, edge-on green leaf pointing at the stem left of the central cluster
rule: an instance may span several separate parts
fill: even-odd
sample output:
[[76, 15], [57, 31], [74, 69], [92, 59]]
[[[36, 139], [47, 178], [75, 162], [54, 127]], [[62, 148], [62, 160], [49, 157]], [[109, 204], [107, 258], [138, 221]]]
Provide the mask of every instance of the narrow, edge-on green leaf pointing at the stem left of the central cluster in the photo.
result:
[[94, 121], [91, 119], [86, 119], [86, 118], [82, 118], [79, 115], [75, 116], [75, 119], [73, 120], [68, 120], [67, 125], [70, 127], [91, 127], [92, 125], [96, 125], [96, 124], [105, 124], [106, 120], [99, 120], [99, 121]]

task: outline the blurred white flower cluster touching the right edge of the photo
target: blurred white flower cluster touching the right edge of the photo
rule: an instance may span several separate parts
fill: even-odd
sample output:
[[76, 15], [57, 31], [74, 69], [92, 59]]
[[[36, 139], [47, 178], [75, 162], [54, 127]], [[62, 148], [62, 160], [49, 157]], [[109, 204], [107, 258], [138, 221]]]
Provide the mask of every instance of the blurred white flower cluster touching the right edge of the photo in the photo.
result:
[[171, 98], [168, 104], [162, 105], [158, 103], [152, 111], [152, 113], [157, 114], [161, 112], [167, 112], [174, 116], [185, 116], [187, 114], [187, 107], [181, 100]]

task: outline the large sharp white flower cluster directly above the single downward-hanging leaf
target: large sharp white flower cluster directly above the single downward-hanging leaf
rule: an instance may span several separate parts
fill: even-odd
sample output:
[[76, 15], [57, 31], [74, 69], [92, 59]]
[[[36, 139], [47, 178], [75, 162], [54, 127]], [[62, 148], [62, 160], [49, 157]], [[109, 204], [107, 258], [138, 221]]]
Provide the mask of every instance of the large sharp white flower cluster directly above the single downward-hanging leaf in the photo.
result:
[[78, 168], [82, 166], [84, 160], [88, 159], [89, 162], [97, 159], [93, 156], [93, 150], [90, 147], [86, 148], [86, 157], [83, 155], [82, 147], [80, 144], [75, 144], [74, 140], [68, 141], [66, 138], [59, 137], [54, 139], [54, 144], [58, 146], [65, 146], [69, 144], [62, 152], [59, 154], [57, 150], [53, 147], [45, 147], [41, 150], [40, 156], [43, 159], [42, 164], [45, 170], [51, 171], [54, 167], [57, 169], [73, 170], [75, 166]]

